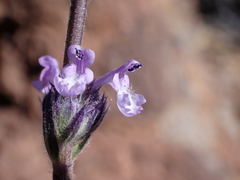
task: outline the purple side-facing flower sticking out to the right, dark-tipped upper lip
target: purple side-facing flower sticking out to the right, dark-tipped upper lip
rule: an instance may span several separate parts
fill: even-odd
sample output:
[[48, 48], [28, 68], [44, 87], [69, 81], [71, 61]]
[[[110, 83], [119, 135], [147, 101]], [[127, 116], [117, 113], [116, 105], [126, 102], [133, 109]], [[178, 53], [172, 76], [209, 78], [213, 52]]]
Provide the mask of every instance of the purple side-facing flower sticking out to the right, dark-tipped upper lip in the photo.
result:
[[104, 84], [110, 84], [117, 91], [117, 106], [119, 110], [127, 117], [139, 114], [142, 104], [146, 99], [141, 94], [134, 94], [129, 83], [128, 73], [132, 73], [139, 69], [142, 65], [136, 60], [130, 60], [123, 66], [105, 74], [99, 78], [94, 87], [100, 87]]

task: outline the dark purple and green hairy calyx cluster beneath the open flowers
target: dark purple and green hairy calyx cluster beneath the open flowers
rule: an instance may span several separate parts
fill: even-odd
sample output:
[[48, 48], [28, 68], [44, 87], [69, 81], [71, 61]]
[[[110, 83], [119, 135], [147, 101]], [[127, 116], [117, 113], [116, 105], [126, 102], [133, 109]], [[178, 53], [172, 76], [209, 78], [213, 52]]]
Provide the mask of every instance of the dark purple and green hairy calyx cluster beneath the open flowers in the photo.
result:
[[43, 99], [44, 142], [53, 163], [72, 164], [107, 112], [107, 98], [100, 98], [92, 84], [71, 97], [61, 95], [52, 85]]

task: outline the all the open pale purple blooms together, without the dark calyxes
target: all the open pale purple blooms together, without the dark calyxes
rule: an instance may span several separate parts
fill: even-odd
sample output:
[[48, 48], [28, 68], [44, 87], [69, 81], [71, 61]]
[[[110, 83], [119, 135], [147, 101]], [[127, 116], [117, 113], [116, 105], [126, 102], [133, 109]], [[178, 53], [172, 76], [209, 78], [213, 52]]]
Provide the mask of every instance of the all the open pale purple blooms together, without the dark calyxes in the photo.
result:
[[94, 81], [94, 74], [88, 68], [94, 62], [94, 51], [72, 45], [68, 48], [68, 58], [71, 63], [67, 64], [62, 71], [59, 70], [58, 61], [51, 56], [39, 58], [39, 64], [44, 69], [39, 80], [33, 81], [34, 87], [44, 94], [48, 94], [54, 87], [63, 97], [75, 97], [83, 94], [90, 83], [93, 91], [105, 84], [110, 84], [117, 91], [117, 106], [125, 116], [132, 117], [143, 109], [141, 105], [146, 100], [143, 95], [132, 92], [127, 75], [142, 66], [138, 61], [130, 60]]

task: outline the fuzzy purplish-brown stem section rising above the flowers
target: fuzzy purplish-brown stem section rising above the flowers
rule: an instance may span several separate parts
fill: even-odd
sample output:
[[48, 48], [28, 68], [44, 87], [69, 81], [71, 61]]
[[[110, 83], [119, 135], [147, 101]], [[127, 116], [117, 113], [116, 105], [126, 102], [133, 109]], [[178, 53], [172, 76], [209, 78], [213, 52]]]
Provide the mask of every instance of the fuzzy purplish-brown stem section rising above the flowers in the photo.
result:
[[90, 0], [71, 0], [63, 66], [69, 63], [68, 47], [73, 44], [81, 45], [89, 2]]

